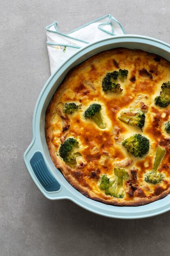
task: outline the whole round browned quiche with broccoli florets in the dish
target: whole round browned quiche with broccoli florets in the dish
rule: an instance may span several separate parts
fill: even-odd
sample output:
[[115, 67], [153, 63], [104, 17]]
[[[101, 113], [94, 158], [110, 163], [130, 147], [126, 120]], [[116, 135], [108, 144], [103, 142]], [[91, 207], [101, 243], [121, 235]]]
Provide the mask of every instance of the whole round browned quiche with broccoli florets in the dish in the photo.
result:
[[170, 63], [138, 49], [72, 68], [46, 110], [56, 168], [92, 200], [138, 206], [170, 193]]

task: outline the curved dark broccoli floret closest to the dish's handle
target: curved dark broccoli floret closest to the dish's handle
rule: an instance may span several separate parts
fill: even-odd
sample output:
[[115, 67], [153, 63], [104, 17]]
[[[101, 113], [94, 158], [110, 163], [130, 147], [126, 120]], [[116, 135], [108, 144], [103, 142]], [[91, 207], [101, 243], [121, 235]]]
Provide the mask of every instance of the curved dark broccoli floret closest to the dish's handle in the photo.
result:
[[76, 153], [71, 154], [74, 147], [78, 147], [78, 141], [74, 138], [68, 138], [61, 144], [59, 148], [59, 155], [63, 158], [63, 161], [70, 164], [76, 164]]

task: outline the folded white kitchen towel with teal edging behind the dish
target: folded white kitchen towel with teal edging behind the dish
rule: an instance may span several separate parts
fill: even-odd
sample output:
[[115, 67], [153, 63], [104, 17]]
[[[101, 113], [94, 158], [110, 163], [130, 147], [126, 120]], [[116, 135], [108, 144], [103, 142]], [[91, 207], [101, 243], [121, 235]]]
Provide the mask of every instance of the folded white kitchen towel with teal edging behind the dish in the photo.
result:
[[62, 34], [59, 31], [57, 22], [47, 26], [46, 30], [51, 74], [81, 47], [102, 38], [125, 34], [120, 22], [110, 14], [93, 20], [68, 34]]

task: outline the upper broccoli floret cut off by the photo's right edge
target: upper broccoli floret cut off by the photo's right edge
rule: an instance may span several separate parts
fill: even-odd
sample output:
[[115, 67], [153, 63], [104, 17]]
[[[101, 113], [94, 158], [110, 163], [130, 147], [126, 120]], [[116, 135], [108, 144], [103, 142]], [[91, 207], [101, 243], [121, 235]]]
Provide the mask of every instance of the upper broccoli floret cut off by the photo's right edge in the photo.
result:
[[155, 98], [155, 104], [161, 108], [166, 108], [170, 104], [170, 81], [161, 85], [161, 92]]

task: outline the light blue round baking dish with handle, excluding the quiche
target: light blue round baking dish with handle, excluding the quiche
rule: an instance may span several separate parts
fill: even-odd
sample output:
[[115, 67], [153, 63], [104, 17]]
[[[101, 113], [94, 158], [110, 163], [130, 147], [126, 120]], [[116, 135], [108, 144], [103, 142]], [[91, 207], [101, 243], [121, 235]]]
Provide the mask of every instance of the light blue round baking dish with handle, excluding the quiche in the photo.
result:
[[50, 76], [37, 100], [33, 115], [33, 140], [24, 153], [24, 162], [39, 190], [51, 200], [69, 199], [79, 206], [111, 218], [137, 219], [155, 216], [170, 209], [170, 195], [156, 202], [137, 207], [117, 207], [86, 198], [74, 189], [55, 168], [44, 135], [45, 111], [63, 81], [65, 74], [87, 58], [107, 49], [126, 47], [155, 53], [170, 61], [170, 45], [146, 36], [114, 36], [81, 48]]

